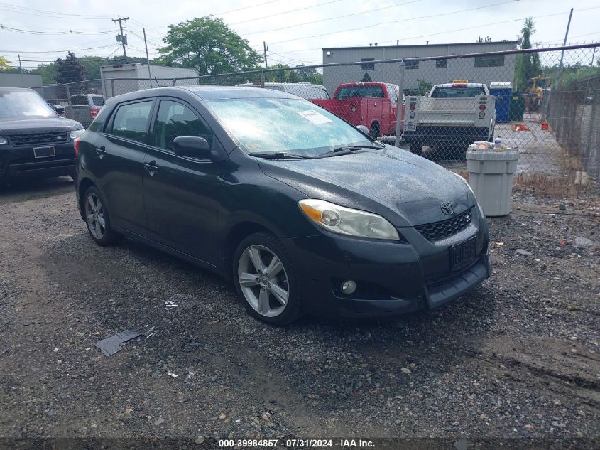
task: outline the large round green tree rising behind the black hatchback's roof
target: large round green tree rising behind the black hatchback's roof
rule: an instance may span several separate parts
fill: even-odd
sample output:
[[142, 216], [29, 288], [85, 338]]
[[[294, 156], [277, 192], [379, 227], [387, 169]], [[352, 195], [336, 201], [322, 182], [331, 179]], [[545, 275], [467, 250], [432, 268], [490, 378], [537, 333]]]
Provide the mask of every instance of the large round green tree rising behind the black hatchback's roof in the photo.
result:
[[158, 48], [163, 63], [195, 68], [200, 75], [251, 70], [262, 60], [246, 39], [212, 16], [170, 25], [163, 41], [167, 45]]

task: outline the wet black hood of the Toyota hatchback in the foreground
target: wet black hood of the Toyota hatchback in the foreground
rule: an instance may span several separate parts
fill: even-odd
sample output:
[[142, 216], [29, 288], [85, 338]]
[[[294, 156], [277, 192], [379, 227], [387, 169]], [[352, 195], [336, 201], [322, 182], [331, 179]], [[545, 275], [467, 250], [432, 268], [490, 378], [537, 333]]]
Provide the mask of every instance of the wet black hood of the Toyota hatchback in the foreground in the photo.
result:
[[475, 205], [466, 184], [432, 161], [386, 146], [386, 149], [323, 159], [260, 159], [261, 170], [309, 198], [383, 215], [396, 227], [413, 227], [449, 218]]

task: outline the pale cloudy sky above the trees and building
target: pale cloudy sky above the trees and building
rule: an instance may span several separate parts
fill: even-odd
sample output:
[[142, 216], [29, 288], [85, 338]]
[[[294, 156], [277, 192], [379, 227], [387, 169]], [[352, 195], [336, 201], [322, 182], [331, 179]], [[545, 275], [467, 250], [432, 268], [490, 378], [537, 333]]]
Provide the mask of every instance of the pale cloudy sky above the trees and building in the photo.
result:
[[[217, 5], [217, 6], [215, 6]], [[322, 63], [324, 47], [516, 40], [533, 16], [534, 43], [558, 45], [574, 8], [569, 43], [600, 41], [600, 3], [590, 0], [0, 0], [0, 55], [35, 68], [67, 50], [77, 56], [122, 55], [116, 43], [124, 22], [128, 56], [144, 56], [146, 28], [150, 58], [163, 44], [168, 25], [213, 15], [259, 53], [268, 45], [268, 63]]]

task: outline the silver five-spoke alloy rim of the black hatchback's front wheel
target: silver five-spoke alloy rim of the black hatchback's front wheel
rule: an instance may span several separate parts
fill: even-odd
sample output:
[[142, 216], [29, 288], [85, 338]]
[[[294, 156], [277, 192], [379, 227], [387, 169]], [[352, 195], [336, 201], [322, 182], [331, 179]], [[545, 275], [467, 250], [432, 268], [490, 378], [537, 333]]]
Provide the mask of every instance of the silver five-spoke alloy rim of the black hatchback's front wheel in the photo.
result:
[[237, 274], [241, 293], [258, 314], [276, 317], [283, 313], [290, 284], [275, 253], [263, 245], [251, 245], [241, 253]]

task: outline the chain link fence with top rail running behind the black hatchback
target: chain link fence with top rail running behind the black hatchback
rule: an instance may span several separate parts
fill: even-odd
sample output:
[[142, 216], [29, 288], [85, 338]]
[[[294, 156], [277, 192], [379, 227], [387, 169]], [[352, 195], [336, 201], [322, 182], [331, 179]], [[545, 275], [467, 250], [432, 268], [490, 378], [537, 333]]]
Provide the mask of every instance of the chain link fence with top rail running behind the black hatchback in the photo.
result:
[[[60, 95], [45, 96], [69, 104], [73, 95], [113, 97], [148, 87], [283, 90], [448, 168], [464, 169], [467, 147], [475, 141], [501, 139], [502, 146], [520, 152], [518, 179], [535, 175], [574, 183], [581, 171], [600, 177], [599, 46], [362, 60], [190, 78], [115, 78], [55, 85], [53, 91]], [[524, 79], [523, 73], [530, 77]]]

